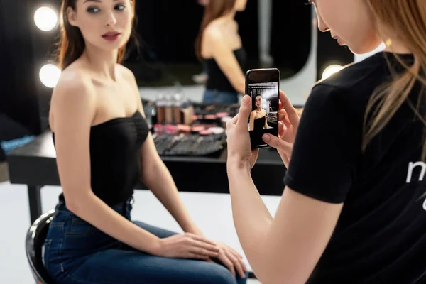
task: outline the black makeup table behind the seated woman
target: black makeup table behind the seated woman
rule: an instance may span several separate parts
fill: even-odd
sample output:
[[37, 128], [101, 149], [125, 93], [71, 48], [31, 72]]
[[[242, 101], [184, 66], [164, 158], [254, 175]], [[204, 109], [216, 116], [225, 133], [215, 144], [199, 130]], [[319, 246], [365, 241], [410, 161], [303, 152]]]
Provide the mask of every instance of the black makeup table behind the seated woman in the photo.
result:
[[[27, 185], [31, 224], [43, 213], [40, 190], [60, 186], [52, 133], [45, 131], [31, 143], [7, 154], [10, 182]], [[226, 148], [215, 157], [163, 156], [163, 162], [182, 192], [229, 194]], [[251, 175], [261, 195], [281, 195], [285, 166], [275, 149], [261, 149]], [[136, 190], [147, 190], [143, 183]]]

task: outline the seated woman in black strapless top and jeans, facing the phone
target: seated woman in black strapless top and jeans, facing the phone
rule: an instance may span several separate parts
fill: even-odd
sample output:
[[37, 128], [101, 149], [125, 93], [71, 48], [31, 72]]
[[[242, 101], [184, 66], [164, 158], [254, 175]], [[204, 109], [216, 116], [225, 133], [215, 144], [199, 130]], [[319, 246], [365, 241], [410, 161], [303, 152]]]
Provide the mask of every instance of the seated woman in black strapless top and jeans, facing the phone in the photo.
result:
[[[134, 5], [62, 0], [62, 75], [49, 120], [63, 194], [45, 267], [65, 284], [246, 283], [241, 256], [203, 236], [187, 212], [155, 149], [135, 77], [119, 64]], [[185, 234], [131, 219], [138, 180]]]

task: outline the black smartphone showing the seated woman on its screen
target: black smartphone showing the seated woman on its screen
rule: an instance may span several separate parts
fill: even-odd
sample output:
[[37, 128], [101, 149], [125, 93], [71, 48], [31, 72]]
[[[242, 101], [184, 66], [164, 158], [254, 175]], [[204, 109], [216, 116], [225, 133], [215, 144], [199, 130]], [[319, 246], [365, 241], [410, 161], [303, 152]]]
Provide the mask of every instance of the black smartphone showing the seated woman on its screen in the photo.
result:
[[253, 69], [246, 72], [246, 94], [251, 96], [251, 114], [247, 121], [251, 148], [268, 148], [262, 136], [278, 136], [280, 70]]

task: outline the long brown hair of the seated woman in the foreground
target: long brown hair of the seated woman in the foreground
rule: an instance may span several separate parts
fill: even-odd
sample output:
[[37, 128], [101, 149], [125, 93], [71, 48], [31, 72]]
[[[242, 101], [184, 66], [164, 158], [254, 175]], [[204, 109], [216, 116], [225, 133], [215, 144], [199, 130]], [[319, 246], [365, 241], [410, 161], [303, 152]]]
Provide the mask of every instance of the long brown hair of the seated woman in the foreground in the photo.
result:
[[[130, 0], [133, 11], [135, 11], [135, 1]], [[85, 43], [83, 35], [80, 31], [80, 28], [72, 26], [68, 21], [67, 8], [70, 7], [74, 11], [77, 9], [77, 0], [62, 0], [62, 6], [60, 9], [60, 23], [61, 23], [61, 32], [60, 32], [60, 42], [58, 50], [58, 65], [60, 70], [64, 70], [66, 67], [70, 66], [72, 62], [80, 58], [84, 52]], [[136, 13], [136, 11], [135, 11]], [[131, 40], [133, 40], [136, 45], [138, 45], [138, 40], [136, 37], [135, 23], [137, 21], [136, 16], [133, 18], [133, 27], [131, 31]], [[117, 62], [121, 63], [126, 54], [126, 45], [119, 48], [119, 54], [117, 56]]]

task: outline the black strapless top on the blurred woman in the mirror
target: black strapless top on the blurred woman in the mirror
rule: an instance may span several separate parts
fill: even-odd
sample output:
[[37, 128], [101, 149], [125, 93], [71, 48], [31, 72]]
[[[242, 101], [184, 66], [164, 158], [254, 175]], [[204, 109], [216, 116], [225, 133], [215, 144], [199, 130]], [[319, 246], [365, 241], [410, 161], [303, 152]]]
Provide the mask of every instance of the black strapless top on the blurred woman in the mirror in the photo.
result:
[[[246, 65], [247, 56], [246, 50], [244, 50], [244, 48], [234, 50], [234, 55], [236, 60], [238, 60], [241, 69], [244, 71], [244, 65]], [[220, 69], [219, 65], [217, 65], [217, 62], [214, 60], [214, 58], [206, 59], [204, 62], [207, 68], [207, 75], [209, 75], [206, 83], [207, 89], [216, 89], [221, 92], [237, 93], [226, 75], [224, 75], [224, 72], [222, 72], [222, 69]]]

